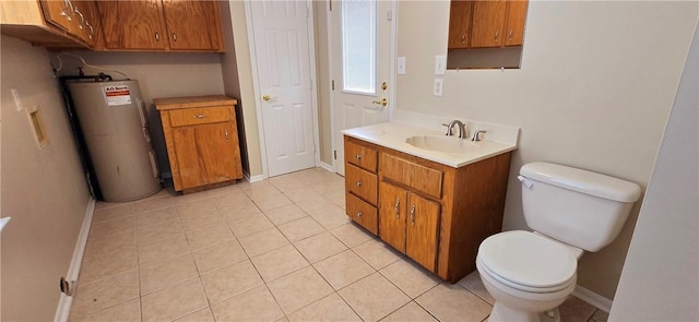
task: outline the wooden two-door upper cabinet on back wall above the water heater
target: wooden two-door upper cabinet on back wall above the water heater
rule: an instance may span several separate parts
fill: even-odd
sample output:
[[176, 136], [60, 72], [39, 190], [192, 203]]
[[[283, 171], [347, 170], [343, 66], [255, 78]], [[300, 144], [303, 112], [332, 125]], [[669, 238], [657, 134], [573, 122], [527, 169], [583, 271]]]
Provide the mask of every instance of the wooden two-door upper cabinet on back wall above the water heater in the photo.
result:
[[98, 1], [106, 50], [223, 52], [218, 1]]

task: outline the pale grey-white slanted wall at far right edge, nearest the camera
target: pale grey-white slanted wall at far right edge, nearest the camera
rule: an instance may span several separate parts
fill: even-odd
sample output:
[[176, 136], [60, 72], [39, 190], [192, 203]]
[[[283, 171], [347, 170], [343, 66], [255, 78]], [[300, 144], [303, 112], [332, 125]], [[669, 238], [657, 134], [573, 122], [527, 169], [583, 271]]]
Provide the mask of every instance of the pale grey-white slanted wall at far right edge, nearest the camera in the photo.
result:
[[609, 319], [699, 320], [699, 28]]

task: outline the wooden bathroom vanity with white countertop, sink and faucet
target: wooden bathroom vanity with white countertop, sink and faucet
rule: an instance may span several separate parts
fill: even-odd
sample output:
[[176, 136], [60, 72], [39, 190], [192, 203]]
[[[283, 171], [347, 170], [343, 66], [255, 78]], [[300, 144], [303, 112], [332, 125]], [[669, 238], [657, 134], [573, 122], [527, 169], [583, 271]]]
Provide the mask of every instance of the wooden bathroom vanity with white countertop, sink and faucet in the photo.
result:
[[347, 216], [445, 281], [473, 272], [481, 241], [501, 230], [517, 141], [392, 122], [343, 132]]

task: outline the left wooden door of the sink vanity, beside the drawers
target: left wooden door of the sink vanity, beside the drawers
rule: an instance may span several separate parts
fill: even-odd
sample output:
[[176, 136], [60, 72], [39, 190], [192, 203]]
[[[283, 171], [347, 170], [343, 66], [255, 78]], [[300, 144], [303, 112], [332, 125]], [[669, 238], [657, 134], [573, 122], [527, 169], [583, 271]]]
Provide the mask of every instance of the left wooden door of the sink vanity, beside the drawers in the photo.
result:
[[379, 183], [379, 235], [381, 240], [405, 253], [405, 208], [407, 191]]

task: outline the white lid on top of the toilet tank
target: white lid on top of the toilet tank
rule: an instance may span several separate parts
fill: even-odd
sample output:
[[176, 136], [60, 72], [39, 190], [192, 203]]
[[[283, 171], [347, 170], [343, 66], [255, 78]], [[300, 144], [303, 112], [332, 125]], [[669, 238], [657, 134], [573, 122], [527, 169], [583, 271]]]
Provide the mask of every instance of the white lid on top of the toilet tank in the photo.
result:
[[550, 163], [531, 163], [520, 168], [520, 175], [536, 181], [618, 202], [636, 202], [641, 188], [606, 175]]

